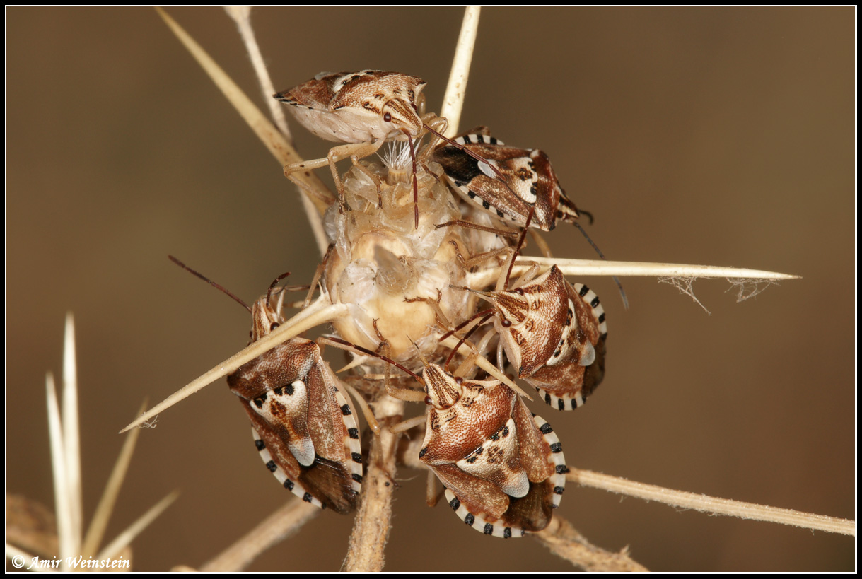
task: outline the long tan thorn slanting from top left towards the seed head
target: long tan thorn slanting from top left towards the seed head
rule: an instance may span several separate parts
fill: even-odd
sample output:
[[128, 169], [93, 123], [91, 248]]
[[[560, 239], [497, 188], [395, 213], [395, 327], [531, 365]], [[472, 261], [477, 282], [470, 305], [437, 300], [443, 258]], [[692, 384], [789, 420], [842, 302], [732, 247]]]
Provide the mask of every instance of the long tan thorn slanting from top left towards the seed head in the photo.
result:
[[[180, 42], [183, 43], [184, 47], [197, 60], [197, 63], [201, 65], [204, 72], [209, 75], [209, 78], [212, 79], [218, 89], [222, 91], [222, 94], [227, 97], [228, 101], [232, 105], [234, 105], [234, 109], [240, 113], [243, 120], [247, 122], [254, 134], [258, 136], [260, 142], [262, 142], [269, 152], [272, 153], [272, 156], [278, 160], [278, 163], [284, 166], [302, 162], [304, 159], [299, 155], [299, 153], [297, 153], [297, 150], [293, 148], [287, 138], [285, 138], [284, 134], [281, 134], [277, 128], [272, 126], [272, 122], [270, 122], [266, 116], [260, 112], [260, 109], [254, 106], [254, 103], [252, 103], [246, 93], [243, 92], [230, 77], [228, 77], [228, 74], [222, 70], [221, 66], [215, 63], [215, 60], [213, 60], [209, 54], [203, 50], [203, 47], [197, 44], [197, 42], [192, 39], [191, 36], [186, 33], [171, 16], [168, 16], [164, 10], [156, 8], [156, 11], [166, 22], [168, 28], [171, 28], [173, 34], [177, 36]], [[315, 177], [314, 174], [303, 171], [297, 173], [297, 178], [309, 187], [309, 189], [325, 192], [328, 196], [331, 196], [326, 185], [323, 184], [320, 178]], [[304, 197], [307, 197], [314, 203], [318, 214], [323, 215], [328, 208], [328, 204], [322, 202], [321, 199], [310, 195], [308, 191], [303, 188], [300, 188], [300, 190]], [[312, 217], [312, 215], [309, 215], [309, 221], [315, 232], [315, 240], [317, 242], [318, 249], [321, 251], [321, 254], [323, 254], [328, 246], [326, 235], [323, 232], [322, 227], [315, 226], [315, 224], [320, 222], [320, 218]]]

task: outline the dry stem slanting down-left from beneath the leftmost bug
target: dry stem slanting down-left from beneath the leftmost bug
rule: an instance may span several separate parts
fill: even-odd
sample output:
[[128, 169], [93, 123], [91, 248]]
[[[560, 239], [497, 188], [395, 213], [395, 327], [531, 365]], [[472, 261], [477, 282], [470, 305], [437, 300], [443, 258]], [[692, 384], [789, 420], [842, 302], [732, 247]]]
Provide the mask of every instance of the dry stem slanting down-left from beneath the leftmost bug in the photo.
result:
[[309, 502], [291, 499], [277, 511], [260, 521], [251, 531], [247, 532], [234, 545], [222, 551], [218, 557], [203, 563], [202, 571], [242, 571], [247, 568], [260, 553], [272, 545], [290, 537], [297, 532], [306, 521], [313, 519], [321, 510]]

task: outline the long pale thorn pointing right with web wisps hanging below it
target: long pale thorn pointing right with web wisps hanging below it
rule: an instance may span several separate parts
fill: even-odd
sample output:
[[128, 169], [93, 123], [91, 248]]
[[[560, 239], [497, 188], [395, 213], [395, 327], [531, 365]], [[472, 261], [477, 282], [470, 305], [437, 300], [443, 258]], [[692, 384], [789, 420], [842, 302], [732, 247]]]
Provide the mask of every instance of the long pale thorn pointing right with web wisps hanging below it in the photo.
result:
[[[536, 258], [522, 256], [515, 262], [513, 276], [528, 271], [528, 264], [539, 264], [540, 273], [552, 265], [559, 267], [566, 276], [650, 276], [650, 277], [726, 277], [729, 279], [779, 280], [799, 279], [787, 273], [746, 270], [738, 267], [718, 265], [658, 264], [640, 261], [603, 261], [601, 259]], [[499, 275], [497, 268], [467, 274], [467, 285], [480, 288], [490, 285]]]

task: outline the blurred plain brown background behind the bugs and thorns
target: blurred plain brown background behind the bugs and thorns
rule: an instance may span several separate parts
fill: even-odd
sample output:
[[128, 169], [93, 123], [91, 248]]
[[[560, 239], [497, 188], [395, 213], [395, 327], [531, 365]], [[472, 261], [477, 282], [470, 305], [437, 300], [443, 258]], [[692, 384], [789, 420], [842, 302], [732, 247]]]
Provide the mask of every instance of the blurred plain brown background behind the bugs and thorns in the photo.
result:
[[[263, 102], [220, 9], [171, 13]], [[278, 90], [377, 68], [445, 90], [460, 9], [261, 9]], [[316, 265], [281, 168], [151, 9], [7, 11], [7, 489], [53, 505], [44, 374], [78, 335], [84, 508], [117, 431], [246, 345], [248, 314], [168, 253], [253, 300]], [[741, 501], [853, 518], [854, 11], [485, 9], [462, 127], [540, 147], [597, 216], [609, 258], [783, 271], [707, 315], [653, 278], [606, 278], [605, 382], [575, 413], [533, 404], [569, 464]], [[293, 125], [297, 147], [328, 145]], [[325, 171], [321, 171], [325, 177]], [[561, 257], [593, 258], [565, 225]], [[172, 489], [134, 542], [136, 570], [200, 565], [289, 499], [260, 464], [223, 381], [141, 433], [109, 538]], [[400, 470], [387, 570], [571, 570], [425, 507]], [[709, 517], [570, 484], [561, 514], [653, 570], [853, 570], [854, 541]], [[353, 517], [332, 513], [253, 570], [338, 570]]]

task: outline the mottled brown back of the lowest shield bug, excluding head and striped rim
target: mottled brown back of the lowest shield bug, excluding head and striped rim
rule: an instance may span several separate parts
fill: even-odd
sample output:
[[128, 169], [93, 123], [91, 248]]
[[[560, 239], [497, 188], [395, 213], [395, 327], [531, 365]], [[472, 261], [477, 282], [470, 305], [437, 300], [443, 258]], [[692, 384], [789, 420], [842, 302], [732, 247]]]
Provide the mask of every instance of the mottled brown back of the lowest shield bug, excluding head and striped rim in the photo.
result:
[[[507, 386], [497, 383], [465, 381], [464, 395], [452, 408], [428, 408], [428, 430], [420, 453], [422, 461], [434, 471], [467, 510], [483, 515], [490, 522], [501, 521], [525, 531], [540, 531], [551, 520], [553, 468], [548, 464], [550, 449], [542, 439], [527, 407]], [[509, 420], [515, 422], [517, 451], [501, 461], [490, 476], [480, 478], [456, 465], [475, 454], [500, 434]], [[499, 481], [510, 471], [526, 471], [529, 491], [521, 498], [506, 495]]]

